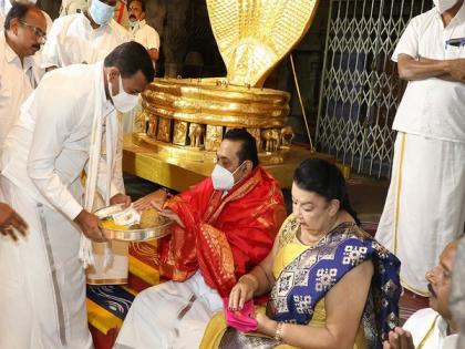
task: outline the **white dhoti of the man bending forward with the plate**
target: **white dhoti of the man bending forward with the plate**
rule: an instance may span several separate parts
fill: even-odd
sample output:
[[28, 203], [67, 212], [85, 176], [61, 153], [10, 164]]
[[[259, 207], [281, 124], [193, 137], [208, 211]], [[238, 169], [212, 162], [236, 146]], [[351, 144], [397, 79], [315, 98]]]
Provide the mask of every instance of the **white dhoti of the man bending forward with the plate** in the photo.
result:
[[81, 233], [61, 213], [0, 176], [4, 198], [29, 225], [0, 240], [0, 348], [93, 348], [79, 260]]

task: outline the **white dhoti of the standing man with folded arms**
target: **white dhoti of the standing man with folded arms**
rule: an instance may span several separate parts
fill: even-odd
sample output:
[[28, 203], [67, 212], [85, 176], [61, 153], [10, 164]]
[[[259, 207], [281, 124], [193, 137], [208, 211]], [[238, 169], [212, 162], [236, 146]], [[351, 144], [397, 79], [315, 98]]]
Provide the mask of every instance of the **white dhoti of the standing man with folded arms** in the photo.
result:
[[401, 260], [403, 287], [427, 296], [425, 274], [464, 222], [465, 144], [399, 132], [376, 239]]

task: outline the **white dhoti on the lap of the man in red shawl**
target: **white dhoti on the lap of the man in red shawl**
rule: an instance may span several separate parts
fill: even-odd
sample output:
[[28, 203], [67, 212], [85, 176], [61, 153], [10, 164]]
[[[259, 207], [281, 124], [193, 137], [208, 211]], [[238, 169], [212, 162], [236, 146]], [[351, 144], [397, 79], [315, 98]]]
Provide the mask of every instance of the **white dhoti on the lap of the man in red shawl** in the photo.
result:
[[151, 287], [134, 299], [114, 349], [198, 348], [221, 309], [221, 298], [199, 271], [184, 283]]

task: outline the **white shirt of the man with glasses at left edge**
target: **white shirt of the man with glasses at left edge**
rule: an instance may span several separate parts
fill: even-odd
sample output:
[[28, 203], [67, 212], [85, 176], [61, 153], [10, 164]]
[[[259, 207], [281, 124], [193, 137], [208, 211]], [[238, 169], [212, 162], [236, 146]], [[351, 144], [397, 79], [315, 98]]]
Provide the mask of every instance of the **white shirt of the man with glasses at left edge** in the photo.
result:
[[[27, 57], [21, 64], [0, 31], [0, 155], [11, 126], [17, 122], [21, 104], [32, 93], [42, 75], [41, 69]], [[1, 170], [1, 166], [0, 166]]]

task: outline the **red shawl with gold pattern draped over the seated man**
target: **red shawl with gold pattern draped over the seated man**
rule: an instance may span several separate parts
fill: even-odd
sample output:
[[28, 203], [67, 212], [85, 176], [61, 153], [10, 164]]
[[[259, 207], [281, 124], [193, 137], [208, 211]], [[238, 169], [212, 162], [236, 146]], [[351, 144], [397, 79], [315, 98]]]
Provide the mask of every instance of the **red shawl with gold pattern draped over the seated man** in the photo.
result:
[[184, 281], [200, 268], [206, 284], [225, 297], [271, 250], [286, 208], [278, 182], [261, 166], [221, 195], [208, 177], [170, 199], [166, 206], [186, 228], [175, 224], [158, 254], [162, 276]]

